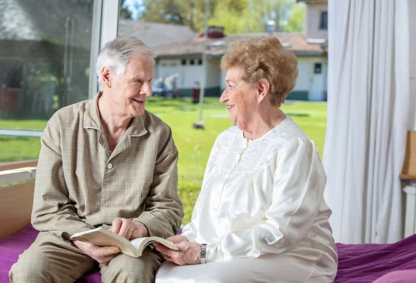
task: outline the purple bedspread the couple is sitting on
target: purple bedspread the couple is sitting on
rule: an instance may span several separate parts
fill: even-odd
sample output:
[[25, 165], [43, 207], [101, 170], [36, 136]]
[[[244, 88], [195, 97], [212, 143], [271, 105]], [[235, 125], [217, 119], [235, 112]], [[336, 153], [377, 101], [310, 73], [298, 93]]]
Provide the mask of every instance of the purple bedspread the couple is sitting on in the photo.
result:
[[[9, 282], [8, 271], [19, 254], [35, 240], [31, 225], [7, 239], [0, 239], [0, 283]], [[416, 271], [416, 234], [393, 244], [336, 244], [339, 262], [335, 282], [373, 282], [390, 271]], [[408, 273], [413, 274], [413, 273]], [[412, 282], [413, 278], [409, 278]], [[101, 283], [99, 271], [85, 275], [77, 283]], [[416, 282], [416, 278], [415, 278]]]

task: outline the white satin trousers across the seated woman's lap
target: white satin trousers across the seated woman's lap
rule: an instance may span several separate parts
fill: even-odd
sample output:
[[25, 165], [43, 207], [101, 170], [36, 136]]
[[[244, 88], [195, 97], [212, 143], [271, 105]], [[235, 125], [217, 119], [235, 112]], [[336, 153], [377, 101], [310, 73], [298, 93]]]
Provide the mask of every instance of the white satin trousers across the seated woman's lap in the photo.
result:
[[322, 260], [309, 260], [288, 252], [194, 266], [177, 266], [166, 261], [157, 271], [156, 283], [333, 282], [336, 263], [322, 264]]

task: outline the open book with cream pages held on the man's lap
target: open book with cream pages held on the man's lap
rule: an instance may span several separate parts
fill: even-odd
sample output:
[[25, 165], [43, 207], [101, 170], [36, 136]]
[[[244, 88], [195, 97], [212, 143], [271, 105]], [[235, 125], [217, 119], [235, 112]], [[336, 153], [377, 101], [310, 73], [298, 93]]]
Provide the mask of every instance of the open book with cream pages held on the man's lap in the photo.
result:
[[79, 232], [73, 234], [70, 239], [92, 243], [97, 246], [116, 246], [120, 248], [123, 254], [132, 257], [140, 257], [144, 248], [153, 242], [160, 243], [171, 250], [179, 250], [171, 241], [160, 237], [143, 237], [128, 241], [128, 239], [105, 228], [96, 228], [85, 232]]

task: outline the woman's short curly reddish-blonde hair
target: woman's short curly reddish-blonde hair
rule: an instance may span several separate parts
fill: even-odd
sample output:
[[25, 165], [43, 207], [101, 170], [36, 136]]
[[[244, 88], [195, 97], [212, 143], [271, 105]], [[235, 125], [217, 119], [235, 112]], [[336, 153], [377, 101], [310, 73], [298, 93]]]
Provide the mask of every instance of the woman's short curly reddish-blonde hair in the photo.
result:
[[240, 67], [244, 71], [242, 79], [248, 83], [266, 78], [270, 83], [270, 102], [276, 106], [284, 103], [293, 90], [298, 74], [295, 54], [285, 50], [277, 37], [232, 43], [221, 58], [220, 67]]

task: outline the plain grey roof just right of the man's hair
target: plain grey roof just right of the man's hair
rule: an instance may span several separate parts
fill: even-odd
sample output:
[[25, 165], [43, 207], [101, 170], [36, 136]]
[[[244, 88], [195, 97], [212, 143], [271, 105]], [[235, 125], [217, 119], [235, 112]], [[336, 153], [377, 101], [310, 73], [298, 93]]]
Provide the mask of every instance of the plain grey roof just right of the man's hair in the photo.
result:
[[182, 42], [196, 37], [191, 28], [175, 24], [152, 22], [135, 22], [128, 19], [119, 20], [119, 35], [136, 37], [151, 49], [157, 46]]

